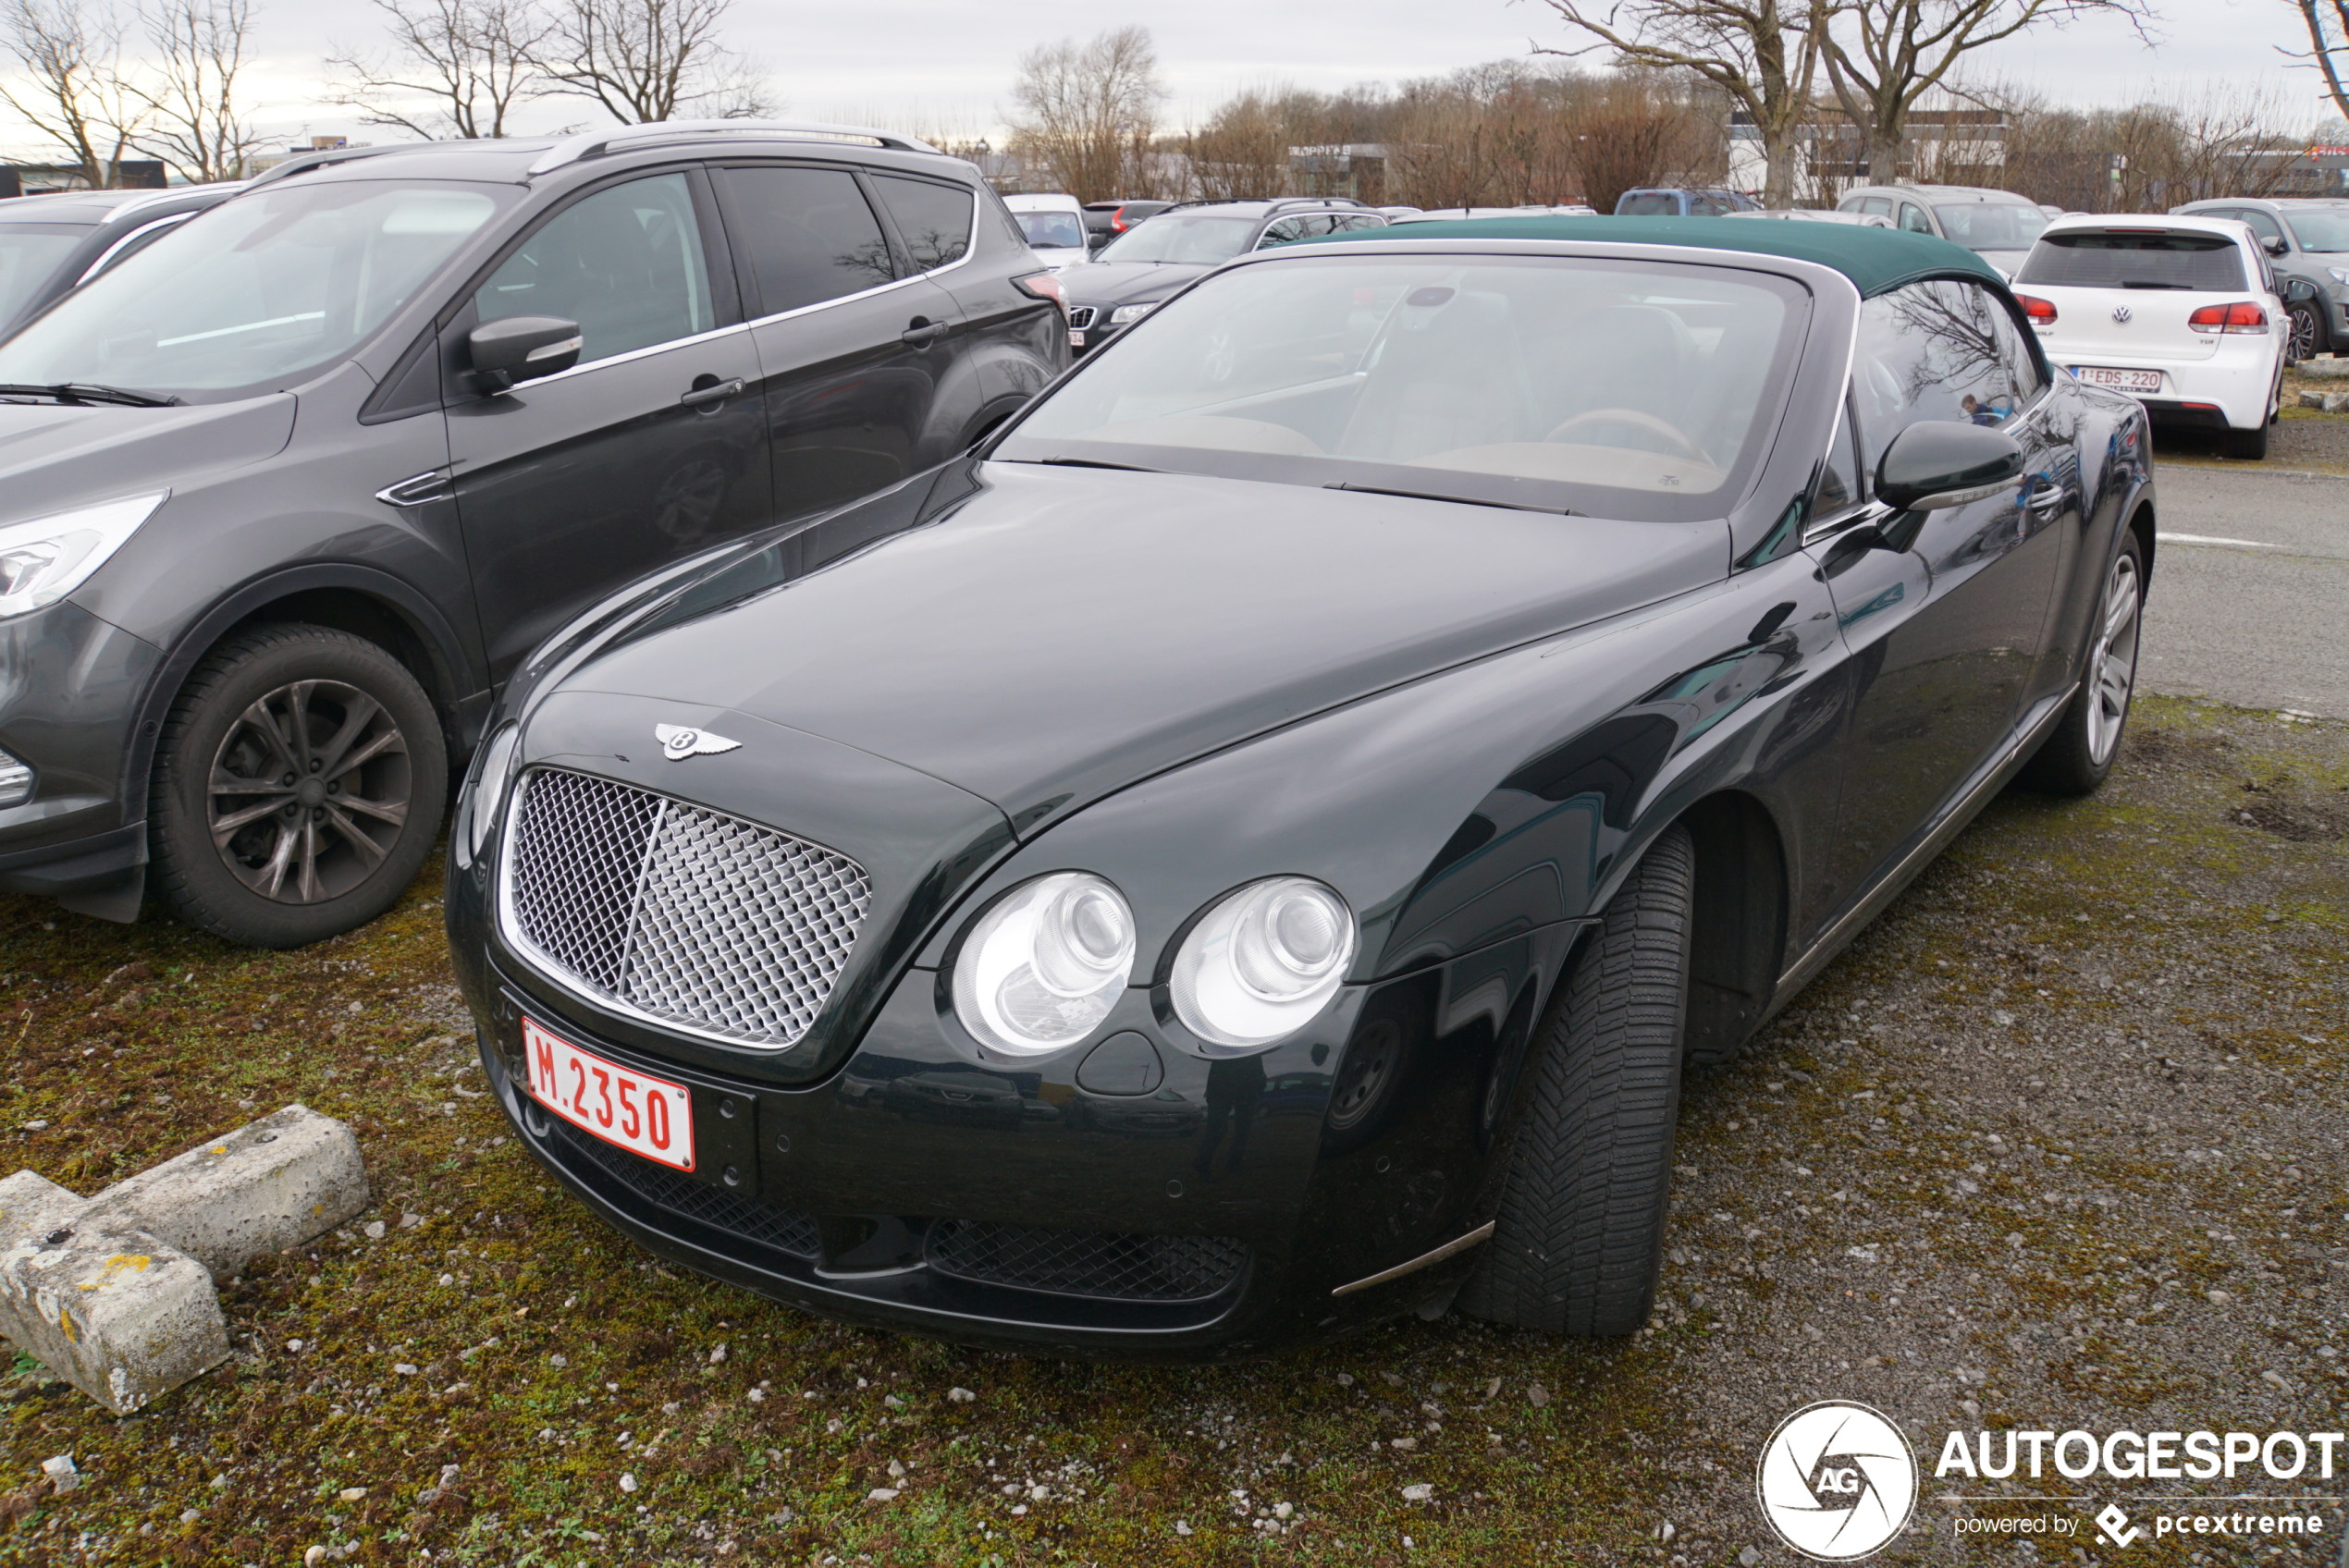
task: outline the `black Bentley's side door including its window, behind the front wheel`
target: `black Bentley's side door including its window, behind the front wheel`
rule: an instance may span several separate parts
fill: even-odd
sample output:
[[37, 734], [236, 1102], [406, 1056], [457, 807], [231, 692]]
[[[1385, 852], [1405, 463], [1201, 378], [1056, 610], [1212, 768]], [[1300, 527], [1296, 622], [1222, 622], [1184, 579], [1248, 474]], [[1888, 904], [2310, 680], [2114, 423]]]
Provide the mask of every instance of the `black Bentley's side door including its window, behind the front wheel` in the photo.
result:
[[1858, 892], [2013, 732], [2077, 516], [2077, 462], [2046, 425], [2046, 383], [2006, 303], [1938, 279], [1867, 300], [1853, 352], [1860, 474], [1917, 420], [2011, 432], [2025, 481], [1933, 512], [1849, 519], [1809, 549], [1851, 653], [1837, 885]]

